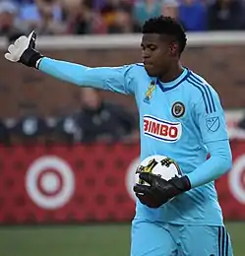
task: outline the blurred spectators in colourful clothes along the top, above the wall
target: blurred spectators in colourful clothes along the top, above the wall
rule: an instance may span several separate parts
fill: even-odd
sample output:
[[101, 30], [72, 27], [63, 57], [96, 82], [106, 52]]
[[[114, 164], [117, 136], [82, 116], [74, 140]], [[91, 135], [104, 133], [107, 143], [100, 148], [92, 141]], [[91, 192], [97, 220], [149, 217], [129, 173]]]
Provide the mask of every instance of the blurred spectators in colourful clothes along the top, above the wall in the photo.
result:
[[154, 16], [173, 17], [186, 31], [243, 30], [244, 0], [0, 0], [0, 33], [140, 32]]

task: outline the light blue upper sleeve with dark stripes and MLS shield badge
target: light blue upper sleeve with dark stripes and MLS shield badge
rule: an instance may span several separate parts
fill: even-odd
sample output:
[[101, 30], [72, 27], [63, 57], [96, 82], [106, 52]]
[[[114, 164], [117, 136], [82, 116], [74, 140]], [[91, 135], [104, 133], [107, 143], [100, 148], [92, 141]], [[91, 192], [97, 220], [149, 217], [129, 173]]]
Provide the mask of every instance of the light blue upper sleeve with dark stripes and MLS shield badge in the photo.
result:
[[227, 140], [227, 128], [224, 111], [219, 96], [207, 85], [202, 96], [195, 103], [195, 119], [201, 131], [203, 142]]

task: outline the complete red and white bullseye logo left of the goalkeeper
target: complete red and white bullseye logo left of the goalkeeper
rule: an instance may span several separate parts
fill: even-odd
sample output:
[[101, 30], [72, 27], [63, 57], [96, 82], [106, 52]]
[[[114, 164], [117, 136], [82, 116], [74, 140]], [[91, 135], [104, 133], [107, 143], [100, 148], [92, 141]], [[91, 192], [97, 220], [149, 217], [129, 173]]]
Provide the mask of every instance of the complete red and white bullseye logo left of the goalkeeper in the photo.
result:
[[26, 189], [40, 208], [54, 210], [69, 202], [75, 191], [75, 177], [67, 161], [55, 156], [34, 160], [27, 172]]

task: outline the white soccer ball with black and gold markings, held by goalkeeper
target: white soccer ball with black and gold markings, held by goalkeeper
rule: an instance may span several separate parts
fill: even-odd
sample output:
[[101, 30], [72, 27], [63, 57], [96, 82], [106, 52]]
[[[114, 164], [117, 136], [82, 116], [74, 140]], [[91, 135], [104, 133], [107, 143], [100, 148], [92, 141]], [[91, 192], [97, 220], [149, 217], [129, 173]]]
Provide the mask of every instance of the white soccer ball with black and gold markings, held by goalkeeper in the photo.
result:
[[140, 179], [139, 175], [141, 172], [151, 172], [155, 175], [159, 175], [165, 180], [169, 180], [176, 176], [183, 176], [183, 173], [176, 161], [159, 155], [154, 155], [143, 160], [136, 169], [136, 183], [149, 186], [149, 183]]

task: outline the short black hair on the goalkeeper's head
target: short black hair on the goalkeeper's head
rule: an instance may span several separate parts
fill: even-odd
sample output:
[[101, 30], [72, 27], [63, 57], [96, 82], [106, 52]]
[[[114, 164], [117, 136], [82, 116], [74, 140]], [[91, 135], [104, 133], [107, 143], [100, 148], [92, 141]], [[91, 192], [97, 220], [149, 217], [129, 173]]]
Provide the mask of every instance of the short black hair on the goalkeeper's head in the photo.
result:
[[179, 54], [186, 46], [186, 33], [176, 20], [170, 17], [155, 17], [146, 21], [143, 26], [143, 33], [159, 33], [173, 36], [179, 45]]

